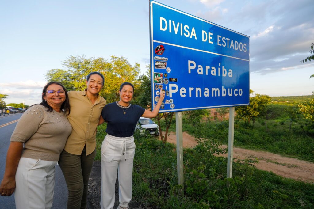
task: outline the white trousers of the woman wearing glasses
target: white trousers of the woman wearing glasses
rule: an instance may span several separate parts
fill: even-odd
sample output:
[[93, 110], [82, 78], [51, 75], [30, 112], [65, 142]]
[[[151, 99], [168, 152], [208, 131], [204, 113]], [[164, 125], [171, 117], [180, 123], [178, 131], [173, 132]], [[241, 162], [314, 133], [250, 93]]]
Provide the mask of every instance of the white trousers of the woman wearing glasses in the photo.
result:
[[17, 209], [51, 208], [57, 161], [20, 158], [15, 174]]

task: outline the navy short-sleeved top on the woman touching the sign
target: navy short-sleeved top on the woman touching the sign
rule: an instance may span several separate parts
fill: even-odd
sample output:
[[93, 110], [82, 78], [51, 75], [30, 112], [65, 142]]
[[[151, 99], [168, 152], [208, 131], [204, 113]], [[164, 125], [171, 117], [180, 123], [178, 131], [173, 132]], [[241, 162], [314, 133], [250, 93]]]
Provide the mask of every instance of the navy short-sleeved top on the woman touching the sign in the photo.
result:
[[[123, 110], [125, 114], [123, 114]], [[114, 137], [131, 137], [145, 109], [138, 105], [129, 108], [119, 107], [116, 102], [107, 104], [101, 112], [102, 118], [108, 123], [106, 132]]]

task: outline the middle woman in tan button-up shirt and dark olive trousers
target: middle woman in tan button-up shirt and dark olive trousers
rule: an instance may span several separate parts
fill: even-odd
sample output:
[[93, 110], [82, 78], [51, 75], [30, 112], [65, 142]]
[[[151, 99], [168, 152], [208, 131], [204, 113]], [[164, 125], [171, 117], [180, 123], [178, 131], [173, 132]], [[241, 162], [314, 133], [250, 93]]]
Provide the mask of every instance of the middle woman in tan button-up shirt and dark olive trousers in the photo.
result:
[[91, 72], [84, 91], [69, 91], [72, 133], [68, 137], [59, 165], [68, 186], [67, 208], [86, 208], [89, 174], [96, 156], [96, 128], [106, 100], [98, 93], [104, 76]]

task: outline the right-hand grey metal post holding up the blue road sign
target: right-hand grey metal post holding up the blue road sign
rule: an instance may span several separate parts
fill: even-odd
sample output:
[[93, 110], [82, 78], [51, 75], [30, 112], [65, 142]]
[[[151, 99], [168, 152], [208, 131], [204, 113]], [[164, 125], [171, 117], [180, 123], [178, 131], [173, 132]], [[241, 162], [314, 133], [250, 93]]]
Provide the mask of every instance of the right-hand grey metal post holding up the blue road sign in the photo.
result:
[[235, 107], [230, 107], [230, 109], [229, 109], [229, 136], [228, 136], [227, 178], [232, 178], [234, 126], [235, 126]]

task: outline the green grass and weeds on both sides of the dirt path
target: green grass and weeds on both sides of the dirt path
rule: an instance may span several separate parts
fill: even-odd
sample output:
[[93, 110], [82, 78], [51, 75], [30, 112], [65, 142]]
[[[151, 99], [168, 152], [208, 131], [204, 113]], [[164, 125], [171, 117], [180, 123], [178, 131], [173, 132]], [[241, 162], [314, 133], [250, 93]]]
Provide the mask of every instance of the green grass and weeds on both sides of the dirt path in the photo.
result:
[[[135, 135], [133, 166], [133, 201], [147, 208], [313, 208], [314, 185], [286, 179], [251, 166], [254, 160], [233, 163], [233, 178], [227, 179], [227, 159], [214, 157], [221, 153], [221, 142], [228, 138], [228, 124], [183, 123], [183, 130], [196, 136], [208, 136], [194, 149], [183, 150], [184, 194], [177, 185], [176, 151], [170, 143], [156, 137]], [[235, 145], [294, 153], [299, 158], [313, 150], [311, 136], [297, 131], [300, 124], [289, 126], [276, 121], [235, 126]], [[267, 128], [266, 128], [267, 127]], [[106, 133], [106, 124], [98, 127], [97, 155]], [[175, 128], [172, 126], [171, 129]], [[298, 137], [298, 138], [296, 138]], [[309, 138], [307, 138], [309, 137]], [[306, 142], [306, 140], [308, 140]], [[290, 143], [293, 145], [289, 145]], [[306, 143], [305, 143], [306, 142]], [[308, 146], [309, 148], [307, 148]], [[298, 152], [295, 152], [298, 150]], [[295, 154], [297, 153], [297, 154]], [[303, 156], [303, 157], [302, 157]], [[313, 161], [313, 159], [311, 159]], [[293, 166], [293, 165], [292, 165]]]

